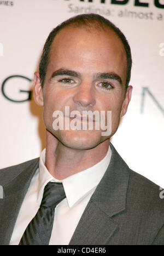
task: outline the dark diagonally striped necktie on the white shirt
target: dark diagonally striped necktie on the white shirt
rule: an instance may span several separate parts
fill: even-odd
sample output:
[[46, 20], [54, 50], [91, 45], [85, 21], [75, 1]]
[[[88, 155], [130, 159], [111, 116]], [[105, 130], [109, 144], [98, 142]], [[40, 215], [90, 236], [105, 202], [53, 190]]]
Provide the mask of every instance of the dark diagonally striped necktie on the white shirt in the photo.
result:
[[66, 197], [62, 183], [49, 182], [37, 214], [28, 224], [20, 245], [48, 245], [54, 223], [55, 207]]

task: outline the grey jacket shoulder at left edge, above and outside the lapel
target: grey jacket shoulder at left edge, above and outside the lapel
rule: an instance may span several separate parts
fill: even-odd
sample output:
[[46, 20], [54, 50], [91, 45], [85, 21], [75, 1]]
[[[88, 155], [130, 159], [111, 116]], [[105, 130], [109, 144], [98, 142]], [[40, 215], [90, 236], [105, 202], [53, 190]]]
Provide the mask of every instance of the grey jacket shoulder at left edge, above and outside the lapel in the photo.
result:
[[14, 179], [17, 175], [23, 172], [25, 169], [31, 169], [37, 163], [39, 163], [39, 157], [34, 158], [24, 163], [16, 164], [15, 166], [6, 167], [0, 169], [0, 181], [1, 185], [7, 183], [10, 179]]

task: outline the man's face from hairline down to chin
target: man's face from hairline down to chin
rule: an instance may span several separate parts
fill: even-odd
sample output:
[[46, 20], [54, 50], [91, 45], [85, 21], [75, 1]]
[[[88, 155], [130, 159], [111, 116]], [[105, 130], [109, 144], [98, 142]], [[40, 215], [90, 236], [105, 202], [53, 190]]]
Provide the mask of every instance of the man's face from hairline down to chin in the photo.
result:
[[[125, 97], [125, 81], [126, 54], [113, 31], [62, 29], [51, 45], [43, 88], [46, 129], [73, 149], [90, 149], [109, 139], [116, 132], [130, 101], [132, 88], [128, 87]], [[101, 129], [54, 130], [54, 111], [64, 113], [64, 123], [66, 118], [67, 122], [72, 121], [65, 116], [65, 106], [70, 112], [77, 110], [81, 115], [89, 110], [112, 111], [112, 133], [102, 136]]]

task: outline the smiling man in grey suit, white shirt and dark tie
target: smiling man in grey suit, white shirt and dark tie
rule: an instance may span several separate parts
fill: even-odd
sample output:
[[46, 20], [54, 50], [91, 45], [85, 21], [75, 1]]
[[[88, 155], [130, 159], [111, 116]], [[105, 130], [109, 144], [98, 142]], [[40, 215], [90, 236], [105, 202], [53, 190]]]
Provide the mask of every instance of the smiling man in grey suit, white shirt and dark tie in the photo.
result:
[[[99, 15], [76, 16], [50, 33], [34, 77], [46, 150], [0, 172], [1, 244], [164, 244], [159, 187], [109, 144], [131, 100], [130, 72], [125, 36]], [[104, 119], [85, 111], [103, 111]], [[102, 120], [110, 133], [96, 129]], [[80, 129], [91, 121], [92, 129]]]

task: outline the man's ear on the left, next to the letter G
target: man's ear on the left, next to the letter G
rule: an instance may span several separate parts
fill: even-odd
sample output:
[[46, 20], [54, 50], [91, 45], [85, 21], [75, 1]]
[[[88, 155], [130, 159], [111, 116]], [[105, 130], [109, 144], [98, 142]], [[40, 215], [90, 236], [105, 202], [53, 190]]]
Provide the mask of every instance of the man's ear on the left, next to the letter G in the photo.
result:
[[34, 92], [34, 100], [36, 101], [37, 105], [43, 106], [43, 89], [40, 82], [39, 72], [34, 73], [34, 81], [33, 81], [33, 92]]

